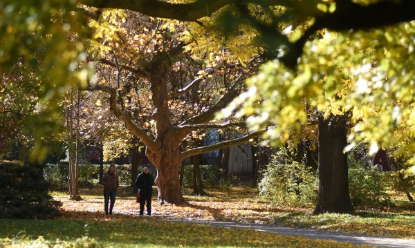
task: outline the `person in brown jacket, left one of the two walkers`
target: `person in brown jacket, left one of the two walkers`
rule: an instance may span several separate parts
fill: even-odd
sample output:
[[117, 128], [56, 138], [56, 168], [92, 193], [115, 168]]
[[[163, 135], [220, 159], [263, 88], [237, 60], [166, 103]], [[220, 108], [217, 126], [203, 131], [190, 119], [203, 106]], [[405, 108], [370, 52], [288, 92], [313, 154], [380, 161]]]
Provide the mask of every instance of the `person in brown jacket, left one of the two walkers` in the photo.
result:
[[[109, 169], [101, 179], [101, 184], [104, 185], [104, 210], [105, 214], [112, 214], [112, 210], [114, 204], [116, 203], [116, 192], [117, 188], [119, 187], [118, 182], [118, 175], [116, 174], [116, 166], [111, 164]], [[111, 203], [109, 204], [109, 211], [108, 211], [108, 203], [109, 199], [111, 198]]]

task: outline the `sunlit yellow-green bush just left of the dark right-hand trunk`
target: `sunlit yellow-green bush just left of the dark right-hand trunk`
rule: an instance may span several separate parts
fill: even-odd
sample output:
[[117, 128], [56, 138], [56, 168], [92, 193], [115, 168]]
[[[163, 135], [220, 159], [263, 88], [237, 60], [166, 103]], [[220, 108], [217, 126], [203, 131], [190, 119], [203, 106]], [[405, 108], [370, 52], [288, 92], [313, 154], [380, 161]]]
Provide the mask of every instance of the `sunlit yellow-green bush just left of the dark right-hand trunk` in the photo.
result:
[[262, 197], [289, 206], [306, 207], [317, 202], [317, 174], [305, 164], [291, 160], [285, 149], [273, 155], [262, 173], [258, 184]]

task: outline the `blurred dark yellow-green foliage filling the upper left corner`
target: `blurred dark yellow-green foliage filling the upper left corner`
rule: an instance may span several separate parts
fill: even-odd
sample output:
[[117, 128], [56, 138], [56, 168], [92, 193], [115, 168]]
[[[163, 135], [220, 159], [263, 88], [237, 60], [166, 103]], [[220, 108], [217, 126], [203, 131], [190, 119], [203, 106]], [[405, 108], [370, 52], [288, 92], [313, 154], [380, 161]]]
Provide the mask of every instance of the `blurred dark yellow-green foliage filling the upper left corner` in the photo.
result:
[[53, 145], [44, 140], [61, 131], [66, 89], [84, 85], [89, 74], [76, 10], [73, 0], [0, 3], [0, 101], [8, 102], [0, 126], [17, 133], [17, 124], [30, 123], [21, 140], [33, 148], [33, 160], [46, 158]]

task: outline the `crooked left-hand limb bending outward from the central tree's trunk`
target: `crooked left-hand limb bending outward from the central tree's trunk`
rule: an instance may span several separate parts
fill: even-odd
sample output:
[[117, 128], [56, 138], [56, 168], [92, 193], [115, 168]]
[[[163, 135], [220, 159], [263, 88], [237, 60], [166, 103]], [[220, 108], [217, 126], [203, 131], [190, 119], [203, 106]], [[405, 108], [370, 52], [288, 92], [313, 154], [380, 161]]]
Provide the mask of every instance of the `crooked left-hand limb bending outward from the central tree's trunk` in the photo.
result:
[[154, 142], [154, 140], [151, 140], [149, 135], [147, 135], [147, 133], [141, 128], [138, 128], [138, 126], [134, 124], [133, 120], [131, 120], [131, 117], [129, 117], [127, 113], [125, 113], [118, 107], [117, 90], [115, 88], [111, 88], [109, 86], [105, 86], [102, 84], [95, 84], [95, 85], [88, 86], [86, 90], [89, 90], [89, 91], [100, 90], [104, 93], [108, 93], [110, 95], [109, 106], [110, 106], [111, 112], [114, 113], [114, 115], [116, 115], [118, 119], [122, 120], [122, 122], [124, 122], [124, 125], [127, 127], [127, 129], [133, 135], [136, 135], [136, 137], [138, 137], [142, 141], [142, 143], [145, 144], [145, 146], [149, 146], [150, 148], [156, 147], [156, 142]]

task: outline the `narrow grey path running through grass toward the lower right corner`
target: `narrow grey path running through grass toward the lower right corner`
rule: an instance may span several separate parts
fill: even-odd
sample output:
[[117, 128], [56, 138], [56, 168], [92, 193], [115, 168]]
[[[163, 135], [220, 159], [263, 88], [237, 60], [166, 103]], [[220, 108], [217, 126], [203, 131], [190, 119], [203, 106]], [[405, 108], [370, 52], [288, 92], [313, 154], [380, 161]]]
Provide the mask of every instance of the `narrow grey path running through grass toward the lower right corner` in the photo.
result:
[[335, 231], [321, 231], [317, 229], [303, 229], [295, 227], [279, 227], [273, 225], [246, 224], [239, 222], [223, 222], [223, 221], [207, 221], [207, 220], [175, 220], [173, 222], [184, 222], [194, 225], [209, 225], [210, 227], [228, 227], [252, 229], [255, 231], [266, 231], [287, 236], [302, 236], [304, 238], [315, 238], [322, 240], [334, 240], [338, 242], [349, 242], [354, 245], [371, 245], [374, 247], [399, 247], [409, 248], [415, 247], [415, 240], [407, 240], [403, 238], [382, 238], [376, 236], [364, 236], [355, 233], [342, 233]]

